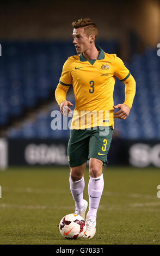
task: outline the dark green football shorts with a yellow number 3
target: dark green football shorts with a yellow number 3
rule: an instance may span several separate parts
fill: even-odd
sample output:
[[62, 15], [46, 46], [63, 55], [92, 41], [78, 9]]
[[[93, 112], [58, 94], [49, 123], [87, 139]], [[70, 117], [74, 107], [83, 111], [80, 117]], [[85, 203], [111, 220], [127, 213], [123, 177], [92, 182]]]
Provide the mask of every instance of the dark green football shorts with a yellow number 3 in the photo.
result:
[[71, 130], [67, 147], [69, 166], [81, 166], [91, 157], [103, 161], [103, 166], [106, 166], [112, 134], [112, 126], [100, 126], [96, 129], [92, 127], [90, 130]]

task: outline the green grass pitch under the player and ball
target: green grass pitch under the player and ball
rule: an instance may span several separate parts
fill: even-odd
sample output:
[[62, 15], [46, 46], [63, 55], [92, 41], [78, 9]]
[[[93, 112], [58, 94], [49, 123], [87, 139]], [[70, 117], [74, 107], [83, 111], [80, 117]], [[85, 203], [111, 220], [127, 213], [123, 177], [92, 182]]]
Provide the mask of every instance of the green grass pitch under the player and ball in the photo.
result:
[[[103, 170], [104, 190], [91, 240], [66, 240], [59, 233], [61, 218], [74, 212], [69, 168], [9, 168], [0, 172], [0, 243], [26, 245], [114, 245], [160, 243], [160, 170]], [[88, 200], [88, 169], [84, 198]]]

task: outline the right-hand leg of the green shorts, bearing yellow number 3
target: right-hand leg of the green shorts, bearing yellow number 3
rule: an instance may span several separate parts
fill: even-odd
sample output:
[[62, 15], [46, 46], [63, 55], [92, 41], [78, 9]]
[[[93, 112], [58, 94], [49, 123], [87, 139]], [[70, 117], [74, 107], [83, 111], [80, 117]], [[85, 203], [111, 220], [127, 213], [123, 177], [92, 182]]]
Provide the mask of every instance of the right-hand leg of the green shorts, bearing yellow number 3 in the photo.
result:
[[107, 155], [112, 141], [113, 127], [104, 127], [103, 130], [97, 129], [90, 136], [89, 141], [89, 159], [95, 158], [106, 165]]

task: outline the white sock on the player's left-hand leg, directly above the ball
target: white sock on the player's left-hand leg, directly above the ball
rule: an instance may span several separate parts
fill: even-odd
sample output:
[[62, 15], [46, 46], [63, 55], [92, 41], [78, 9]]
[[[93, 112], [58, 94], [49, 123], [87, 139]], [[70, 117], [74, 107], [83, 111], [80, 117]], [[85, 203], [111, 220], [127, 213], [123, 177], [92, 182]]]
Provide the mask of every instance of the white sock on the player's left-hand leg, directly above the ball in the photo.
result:
[[83, 202], [83, 190], [84, 190], [85, 182], [84, 177], [78, 181], [72, 181], [70, 174], [70, 190], [72, 193], [72, 197], [75, 200], [76, 210], [83, 210], [84, 202]]

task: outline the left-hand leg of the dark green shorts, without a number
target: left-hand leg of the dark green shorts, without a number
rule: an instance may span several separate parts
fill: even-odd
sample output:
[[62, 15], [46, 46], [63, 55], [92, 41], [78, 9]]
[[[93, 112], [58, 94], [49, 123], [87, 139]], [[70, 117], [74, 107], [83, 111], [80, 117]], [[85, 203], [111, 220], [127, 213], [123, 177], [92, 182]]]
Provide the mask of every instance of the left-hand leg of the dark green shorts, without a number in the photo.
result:
[[89, 133], [86, 130], [71, 130], [67, 147], [70, 167], [79, 167], [88, 160]]

